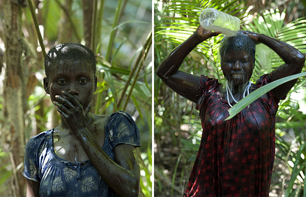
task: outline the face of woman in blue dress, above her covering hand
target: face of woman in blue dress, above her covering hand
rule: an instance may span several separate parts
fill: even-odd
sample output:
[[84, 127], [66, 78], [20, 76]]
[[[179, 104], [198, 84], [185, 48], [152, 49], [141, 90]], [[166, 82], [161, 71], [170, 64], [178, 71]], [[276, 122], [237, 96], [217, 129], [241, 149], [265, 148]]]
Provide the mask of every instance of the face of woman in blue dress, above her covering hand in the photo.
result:
[[46, 93], [50, 94], [52, 102], [56, 100], [56, 95], [63, 96], [63, 91], [67, 91], [80, 102], [83, 109], [86, 109], [96, 90], [97, 78], [89, 65], [78, 62], [62, 63], [50, 70], [44, 83]]

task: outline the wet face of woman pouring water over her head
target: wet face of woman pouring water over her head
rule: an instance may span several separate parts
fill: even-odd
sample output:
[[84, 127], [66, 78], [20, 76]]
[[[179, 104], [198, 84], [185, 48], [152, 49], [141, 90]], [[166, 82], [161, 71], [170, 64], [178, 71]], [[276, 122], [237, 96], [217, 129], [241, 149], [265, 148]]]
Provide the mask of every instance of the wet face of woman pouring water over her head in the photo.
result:
[[253, 68], [253, 58], [244, 50], [227, 50], [221, 60], [223, 74], [234, 86], [246, 84], [252, 76]]

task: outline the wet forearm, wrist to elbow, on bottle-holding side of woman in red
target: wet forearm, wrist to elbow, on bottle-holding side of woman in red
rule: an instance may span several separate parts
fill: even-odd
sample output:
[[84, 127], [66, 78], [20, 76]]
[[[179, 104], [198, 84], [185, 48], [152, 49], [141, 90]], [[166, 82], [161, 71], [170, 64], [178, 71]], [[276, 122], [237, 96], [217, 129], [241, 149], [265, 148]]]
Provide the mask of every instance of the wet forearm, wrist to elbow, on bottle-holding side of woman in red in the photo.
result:
[[169, 76], [176, 73], [182, 65], [185, 57], [201, 43], [200, 38], [193, 33], [185, 42], [173, 49], [161, 62], [156, 71], [157, 76], [161, 79], [167, 79]]

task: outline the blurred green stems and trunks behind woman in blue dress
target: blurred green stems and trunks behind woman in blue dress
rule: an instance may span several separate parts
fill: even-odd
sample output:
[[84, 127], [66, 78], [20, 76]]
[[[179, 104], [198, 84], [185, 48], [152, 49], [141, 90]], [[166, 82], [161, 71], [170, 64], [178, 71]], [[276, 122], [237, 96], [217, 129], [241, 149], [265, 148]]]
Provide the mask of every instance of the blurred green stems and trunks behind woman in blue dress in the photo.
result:
[[[33, 0], [47, 52], [79, 42], [97, 54], [91, 111], [127, 111], [139, 127], [140, 196], [152, 196], [152, 1]], [[0, 1], [0, 196], [25, 196], [24, 147], [59, 115], [42, 88], [42, 47], [27, 0]]]

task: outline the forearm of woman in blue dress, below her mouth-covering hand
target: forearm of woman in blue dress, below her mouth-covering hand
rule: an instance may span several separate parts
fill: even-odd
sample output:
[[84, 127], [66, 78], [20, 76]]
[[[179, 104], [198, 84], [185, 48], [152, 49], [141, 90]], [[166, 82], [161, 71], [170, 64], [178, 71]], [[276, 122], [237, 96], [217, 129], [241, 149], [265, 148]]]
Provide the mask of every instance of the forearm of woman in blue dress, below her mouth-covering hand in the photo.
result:
[[76, 138], [101, 178], [119, 196], [138, 196], [137, 178], [127, 169], [116, 164], [99, 146], [87, 129], [78, 131]]

